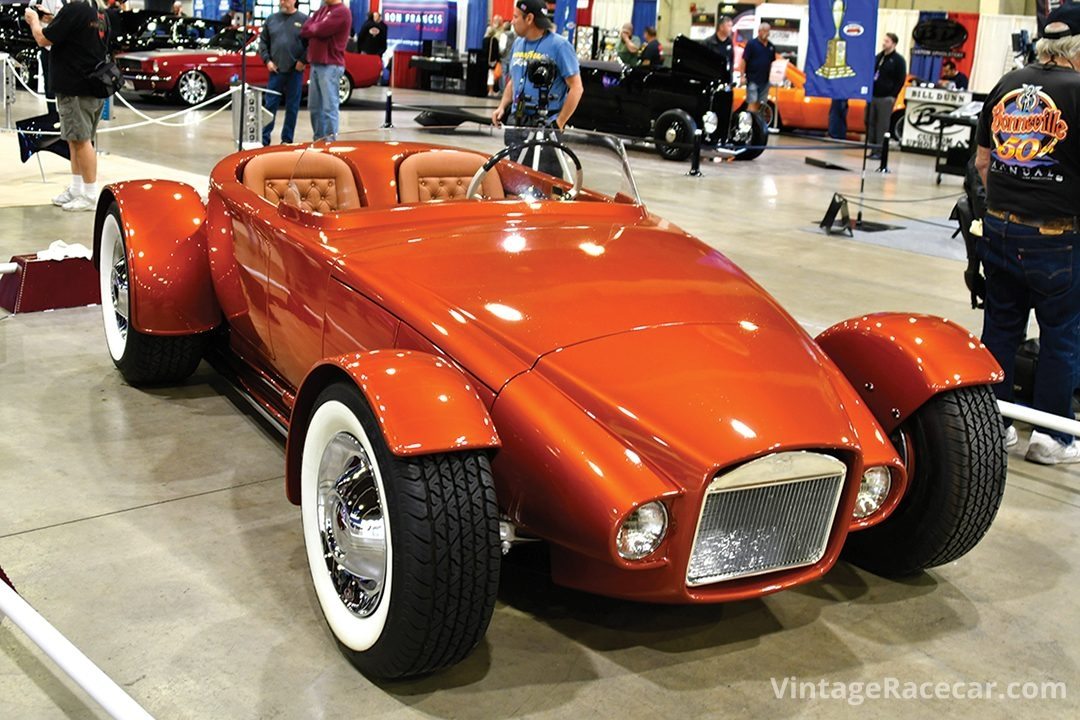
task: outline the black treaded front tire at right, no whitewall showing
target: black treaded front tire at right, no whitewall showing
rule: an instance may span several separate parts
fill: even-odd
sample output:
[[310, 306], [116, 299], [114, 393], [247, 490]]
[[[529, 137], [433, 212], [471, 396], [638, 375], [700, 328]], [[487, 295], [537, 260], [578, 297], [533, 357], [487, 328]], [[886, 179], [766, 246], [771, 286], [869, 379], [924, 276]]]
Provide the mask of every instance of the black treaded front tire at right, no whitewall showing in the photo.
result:
[[933, 397], [903, 426], [908, 489], [883, 522], [852, 532], [843, 554], [885, 576], [951, 562], [978, 544], [1005, 489], [1004, 427], [988, 385]]

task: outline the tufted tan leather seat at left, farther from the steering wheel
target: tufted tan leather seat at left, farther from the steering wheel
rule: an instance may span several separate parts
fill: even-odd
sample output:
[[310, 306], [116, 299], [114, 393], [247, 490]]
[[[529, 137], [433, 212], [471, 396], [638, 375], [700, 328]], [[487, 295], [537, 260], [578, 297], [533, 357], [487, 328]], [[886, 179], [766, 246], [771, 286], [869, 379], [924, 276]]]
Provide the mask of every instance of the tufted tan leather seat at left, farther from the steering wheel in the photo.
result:
[[336, 213], [363, 205], [352, 168], [327, 152], [255, 155], [244, 165], [244, 185], [274, 205], [284, 202], [308, 213]]

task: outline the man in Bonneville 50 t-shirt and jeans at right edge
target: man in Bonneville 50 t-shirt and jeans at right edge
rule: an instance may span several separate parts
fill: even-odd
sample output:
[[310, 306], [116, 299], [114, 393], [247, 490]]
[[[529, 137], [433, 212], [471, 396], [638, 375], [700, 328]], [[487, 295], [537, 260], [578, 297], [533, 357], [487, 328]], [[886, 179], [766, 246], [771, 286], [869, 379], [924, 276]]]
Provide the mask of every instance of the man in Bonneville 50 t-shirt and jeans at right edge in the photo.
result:
[[[1047, 17], [1038, 63], [1003, 77], [978, 117], [975, 165], [986, 185], [977, 254], [986, 269], [983, 343], [1012, 399], [1015, 355], [1031, 310], [1039, 323], [1032, 405], [1072, 418], [1080, 367], [1080, 5]], [[1016, 430], [1007, 431], [1015, 444]], [[1031, 432], [1027, 460], [1080, 462], [1068, 433]]]

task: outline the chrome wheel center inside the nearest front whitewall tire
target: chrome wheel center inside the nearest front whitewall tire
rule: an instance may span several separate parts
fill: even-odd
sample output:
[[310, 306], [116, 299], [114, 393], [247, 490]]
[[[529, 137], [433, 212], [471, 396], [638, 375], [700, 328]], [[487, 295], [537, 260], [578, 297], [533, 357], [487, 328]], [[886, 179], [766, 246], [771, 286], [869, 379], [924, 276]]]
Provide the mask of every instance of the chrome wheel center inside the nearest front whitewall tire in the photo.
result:
[[319, 463], [318, 518], [326, 570], [341, 603], [369, 616], [382, 598], [387, 535], [372, 460], [360, 440], [337, 433]]

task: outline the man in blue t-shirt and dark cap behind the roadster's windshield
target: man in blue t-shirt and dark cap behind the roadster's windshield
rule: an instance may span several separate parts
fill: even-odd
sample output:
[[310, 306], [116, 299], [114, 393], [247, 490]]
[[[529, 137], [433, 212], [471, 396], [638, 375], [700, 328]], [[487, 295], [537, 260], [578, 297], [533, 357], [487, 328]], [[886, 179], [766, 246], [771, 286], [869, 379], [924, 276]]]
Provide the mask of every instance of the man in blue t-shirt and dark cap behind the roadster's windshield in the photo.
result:
[[[551, 31], [552, 22], [544, 11], [542, 0], [514, 2], [513, 28], [517, 38], [510, 51], [510, 80], [499, 107], [491, 112], [496, 127], [505, 121], [508, 125], [539, 127], [546, 124], [562, 130], [578, 109], [584, 92], [578, 56], [566, 38]], [[556, 69], [546, 92], [546, 117], [540, 112], [542, 91], [528, 78], [529, 64], [543, 58], [552, 62]]]

